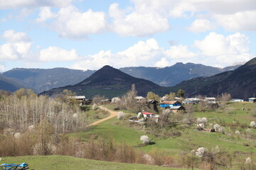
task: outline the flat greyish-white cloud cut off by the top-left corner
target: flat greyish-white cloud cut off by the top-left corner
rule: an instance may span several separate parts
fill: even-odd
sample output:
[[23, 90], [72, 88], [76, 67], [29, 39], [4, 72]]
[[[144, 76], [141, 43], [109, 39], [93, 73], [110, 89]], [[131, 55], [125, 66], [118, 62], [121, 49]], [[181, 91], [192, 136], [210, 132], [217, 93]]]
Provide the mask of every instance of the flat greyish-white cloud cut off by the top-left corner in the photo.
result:
[[73, 0], [0, 0], [0, 9], [30, 8], [38, 6], [65, 7], [72, 4]]

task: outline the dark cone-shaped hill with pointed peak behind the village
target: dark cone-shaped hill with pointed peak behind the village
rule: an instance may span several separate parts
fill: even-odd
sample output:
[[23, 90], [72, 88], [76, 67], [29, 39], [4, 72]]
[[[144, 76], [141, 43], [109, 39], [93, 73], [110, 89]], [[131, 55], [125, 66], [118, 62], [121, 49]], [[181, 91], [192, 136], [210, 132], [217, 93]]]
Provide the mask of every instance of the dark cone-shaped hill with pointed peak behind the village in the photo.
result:
[[125, 94], [131, 89], [132, 84], [135, 84], [139, 96], [146, 96], [148, 91], [154, 91], [157, 94], [169, 93], [169, 89], [149, 80], [138, 79], [119, 71], [119, 69], [105, 66], [78, 84], [44, 91], [41, 94], [54, 96], [64, 89], [69, 89], [78, 95], [85, 95], [89, 98], [96, 94], [113, 97]]

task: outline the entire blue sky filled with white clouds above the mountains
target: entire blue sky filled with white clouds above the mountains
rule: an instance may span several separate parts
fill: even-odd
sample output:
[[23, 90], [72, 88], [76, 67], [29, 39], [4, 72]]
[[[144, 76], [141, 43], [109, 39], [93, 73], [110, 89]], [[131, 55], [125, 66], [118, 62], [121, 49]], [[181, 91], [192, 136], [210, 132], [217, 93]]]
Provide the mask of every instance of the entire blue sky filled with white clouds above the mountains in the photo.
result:
[[0, 0], [0, 72], [227, 67], [256, 56], [255, 0]]

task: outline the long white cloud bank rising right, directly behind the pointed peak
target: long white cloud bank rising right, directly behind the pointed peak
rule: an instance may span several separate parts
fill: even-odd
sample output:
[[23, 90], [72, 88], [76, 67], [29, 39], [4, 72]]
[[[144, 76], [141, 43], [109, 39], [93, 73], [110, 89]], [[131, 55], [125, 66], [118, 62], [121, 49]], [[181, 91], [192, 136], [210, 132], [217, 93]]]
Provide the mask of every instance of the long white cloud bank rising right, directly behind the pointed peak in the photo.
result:
[[84, 60], [73, 64], [73, 69], [99, 69], [105, 64], [113, 67], [166, 67], [174, 64], [174, 61], [181, 58], [195, 57], [185, 45], [171, 46], [166, 50], [159, 47], [158, 42], [151, 38], [146, 41], [139, 41], [128, 47], [127, 50], [113, 53], [110, 50], [102, 50], [95, 55], [89, 55]]

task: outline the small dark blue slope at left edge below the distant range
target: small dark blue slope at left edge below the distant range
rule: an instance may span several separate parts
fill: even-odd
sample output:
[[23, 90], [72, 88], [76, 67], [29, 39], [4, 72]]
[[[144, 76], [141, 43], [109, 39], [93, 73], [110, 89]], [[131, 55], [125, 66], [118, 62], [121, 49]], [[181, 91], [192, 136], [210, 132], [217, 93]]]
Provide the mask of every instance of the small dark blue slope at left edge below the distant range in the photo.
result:
[[26, 88], [25, 86], [18, 84], [16, 81], [11, 79], [6, 79], [0, 75], [0, 89], [4, 91], [16, 91], [21, 88]]

